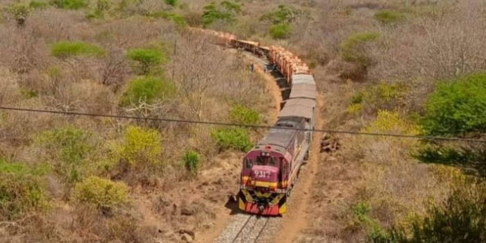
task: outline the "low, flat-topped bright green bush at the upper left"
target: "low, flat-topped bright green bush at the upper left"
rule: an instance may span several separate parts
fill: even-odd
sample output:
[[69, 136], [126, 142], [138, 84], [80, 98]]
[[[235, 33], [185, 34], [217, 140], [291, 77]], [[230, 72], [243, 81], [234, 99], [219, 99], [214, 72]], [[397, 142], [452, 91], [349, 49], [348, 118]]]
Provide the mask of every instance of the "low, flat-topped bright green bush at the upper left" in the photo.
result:
[[72, 56], [104, 56], [106, 51], [97, 45], [86, 42], [56, 42], [51, 46], [51, 55], [56, 58], [68, 58]]

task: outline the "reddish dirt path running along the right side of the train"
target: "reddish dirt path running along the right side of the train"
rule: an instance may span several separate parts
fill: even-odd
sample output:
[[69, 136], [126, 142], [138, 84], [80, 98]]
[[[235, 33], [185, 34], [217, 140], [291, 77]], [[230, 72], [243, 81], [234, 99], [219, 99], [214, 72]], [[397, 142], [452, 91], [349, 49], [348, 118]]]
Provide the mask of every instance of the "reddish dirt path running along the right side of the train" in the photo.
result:
[[[324, 124], [324, 117], [321, 115], [321, 106], [323, 98], [319, 94], [317, 97], [316, 112], [316, 128], [321, 128]], [[321, 161], [321, 154], [319, 153], [319, 142], [321, 133], [314, 133], [312, 146], [310, 151], [310, 159], [301, 171], [299, 181], [292, 192], [290, 204], [287, 208], [287, 213], [283, 215], [283, 220], [280, 225], [280, 230], [275, 235], [274, 242], [295, 242], [294, 239], [299, 236], [301, 231], [305, 228], [308, 222], [312, 208], [310, 207], [310, 191], [312, 189], [312, 182], [314, 181], [317, 171], [318, 163]]]

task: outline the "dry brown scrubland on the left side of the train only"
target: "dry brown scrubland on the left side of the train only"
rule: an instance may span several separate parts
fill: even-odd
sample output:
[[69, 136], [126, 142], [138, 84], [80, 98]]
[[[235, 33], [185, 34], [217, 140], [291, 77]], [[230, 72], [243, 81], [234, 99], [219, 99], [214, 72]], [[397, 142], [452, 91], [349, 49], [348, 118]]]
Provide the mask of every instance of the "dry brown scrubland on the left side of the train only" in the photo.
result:
[[[190, 7], [171, 4], [2, 1], [1, 106], [269, 123], [263, 79], [181, 28], [174, 16]], [[197, 239], [237, 190], [242, 148], [213, 138], [219, 128], [0, 117], [1, 242]], [[242, 131], [249, 142], [260, 135]]]

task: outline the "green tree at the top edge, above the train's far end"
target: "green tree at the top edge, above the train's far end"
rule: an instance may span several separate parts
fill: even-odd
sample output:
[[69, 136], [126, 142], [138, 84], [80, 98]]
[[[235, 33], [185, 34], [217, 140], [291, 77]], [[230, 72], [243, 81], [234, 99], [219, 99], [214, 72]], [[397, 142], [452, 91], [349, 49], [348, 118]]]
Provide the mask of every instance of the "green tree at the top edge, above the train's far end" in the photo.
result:
[[203, 8], [203, 26], [222, 21], [226, 23], [235, 22], [235, 15], [241, 12], [241, 4], [232, 1], [222, 1], [219, 3], [209, 3]]

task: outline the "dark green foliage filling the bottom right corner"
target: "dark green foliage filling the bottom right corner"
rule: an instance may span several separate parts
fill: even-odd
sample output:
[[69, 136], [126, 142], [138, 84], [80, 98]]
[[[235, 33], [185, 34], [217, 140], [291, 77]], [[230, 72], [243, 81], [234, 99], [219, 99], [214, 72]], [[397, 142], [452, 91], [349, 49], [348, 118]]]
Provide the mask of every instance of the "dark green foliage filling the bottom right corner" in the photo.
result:
[[428, 208], [410, 226], [396, 226], [374, 242], [485, 242], [486, 187], [469, 185], [455, 190], [443, 205]]

